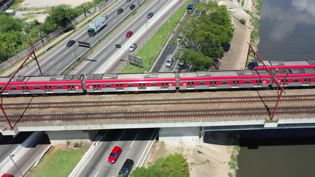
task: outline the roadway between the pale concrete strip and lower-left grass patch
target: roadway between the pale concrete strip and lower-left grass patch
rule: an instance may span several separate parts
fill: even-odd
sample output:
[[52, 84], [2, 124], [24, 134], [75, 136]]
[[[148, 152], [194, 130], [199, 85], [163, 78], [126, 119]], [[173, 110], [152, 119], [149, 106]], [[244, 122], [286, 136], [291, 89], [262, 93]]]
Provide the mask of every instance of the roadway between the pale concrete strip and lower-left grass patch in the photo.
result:
[[[23, 152], [23, 155], [20, 158], [14, 160], [23, 176], [28, 173], [32, 165], [50, 146], [49, 138], [47, 134], [44, 133], [32, 144], [31, 147], [28, 147], [27, 150]], [[11, 174], [14, 177], [21, 177], [14, 165], [12, 165], [5, 173]]]

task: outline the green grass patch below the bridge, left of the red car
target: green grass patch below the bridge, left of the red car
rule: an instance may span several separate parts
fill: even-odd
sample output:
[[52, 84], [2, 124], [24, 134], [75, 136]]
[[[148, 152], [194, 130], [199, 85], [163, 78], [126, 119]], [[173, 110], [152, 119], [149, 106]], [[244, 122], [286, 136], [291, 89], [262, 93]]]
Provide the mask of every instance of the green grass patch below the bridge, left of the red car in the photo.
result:
[[85, 145], [78, 149], [51, 148], [27, 177], [67, 177], [88, 149]]

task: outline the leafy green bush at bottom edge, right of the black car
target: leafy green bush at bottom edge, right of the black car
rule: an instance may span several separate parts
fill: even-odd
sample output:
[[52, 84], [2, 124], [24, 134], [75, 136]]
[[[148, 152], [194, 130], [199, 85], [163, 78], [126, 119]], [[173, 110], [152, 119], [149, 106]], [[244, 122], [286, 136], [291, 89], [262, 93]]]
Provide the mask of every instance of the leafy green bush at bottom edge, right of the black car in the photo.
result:
[[189, 177], [189, 164], [182, 153], [169, 154], [147, 168], [137, 167], [130, 177]]

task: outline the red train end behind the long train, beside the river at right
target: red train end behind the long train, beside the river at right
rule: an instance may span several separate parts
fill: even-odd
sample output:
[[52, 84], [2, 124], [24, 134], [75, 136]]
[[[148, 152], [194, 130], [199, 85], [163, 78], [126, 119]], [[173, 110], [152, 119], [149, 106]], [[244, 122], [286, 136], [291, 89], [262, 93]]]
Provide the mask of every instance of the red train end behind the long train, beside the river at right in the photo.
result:
[[[264, 61], [269, 69], [299, 69], [315, 68], [315, 60], [300, 61]], [[245, 70], [265, 70], [265, 66], [260, 61], [252, 61]]]

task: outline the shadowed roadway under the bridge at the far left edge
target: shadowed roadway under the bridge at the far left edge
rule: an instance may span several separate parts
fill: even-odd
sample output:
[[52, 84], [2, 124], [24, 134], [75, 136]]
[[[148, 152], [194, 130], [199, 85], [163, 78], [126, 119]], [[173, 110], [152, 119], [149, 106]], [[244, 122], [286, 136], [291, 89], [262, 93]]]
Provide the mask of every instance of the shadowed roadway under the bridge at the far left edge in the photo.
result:
[[32, 132], [21, 132], [16, 137], [11, 135], [0, 136], [0, 163], [8, 157], [8, 154], [20, 146]]

